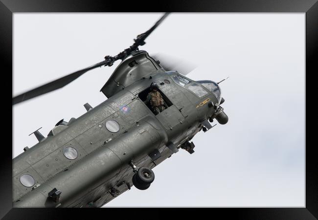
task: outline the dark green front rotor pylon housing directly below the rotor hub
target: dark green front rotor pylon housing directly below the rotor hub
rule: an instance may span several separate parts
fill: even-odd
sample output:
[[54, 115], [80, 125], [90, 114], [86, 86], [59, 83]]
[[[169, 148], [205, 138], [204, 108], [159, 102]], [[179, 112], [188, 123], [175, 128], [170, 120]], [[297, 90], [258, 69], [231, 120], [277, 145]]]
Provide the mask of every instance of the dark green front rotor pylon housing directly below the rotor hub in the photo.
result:
[[159, 72], [163, 73], [164, 69], [146, 51], [134, 51], [116, 67], [100, 91], [110, 98], [137, 80]]

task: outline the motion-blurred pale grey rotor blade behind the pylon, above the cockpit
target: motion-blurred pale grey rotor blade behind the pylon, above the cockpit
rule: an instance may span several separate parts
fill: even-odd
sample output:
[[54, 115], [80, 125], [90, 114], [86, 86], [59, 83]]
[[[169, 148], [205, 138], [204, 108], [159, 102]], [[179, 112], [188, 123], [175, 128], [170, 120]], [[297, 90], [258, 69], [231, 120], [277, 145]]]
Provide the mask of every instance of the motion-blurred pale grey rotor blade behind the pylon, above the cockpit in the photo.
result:
[[166, 71], [178, 71], [182, 75], [187, 75], [193, 69], [197, 67], [197, 65], [186, 61], [181, 58], [173, 57], [171, 55], [166, 55], [162, 53], [157, 53], [151, 55], [155, 60], [159, 60], [160, 66]]

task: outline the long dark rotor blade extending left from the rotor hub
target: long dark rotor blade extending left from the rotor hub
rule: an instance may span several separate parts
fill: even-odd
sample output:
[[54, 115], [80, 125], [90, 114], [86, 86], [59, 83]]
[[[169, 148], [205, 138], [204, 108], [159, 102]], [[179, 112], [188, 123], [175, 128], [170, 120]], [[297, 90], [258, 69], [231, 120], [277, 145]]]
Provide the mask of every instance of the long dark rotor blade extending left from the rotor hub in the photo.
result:
[[62, 88], [64, 86], [68, 85], [73, 80], [80, 77], [81, 75], [83, 75], [84, 73], [86, 73], [87, 71], [94, 69], [96, 67], [99, 67], [99, 66], [107, 65], [108, 63], [109, 63], [109, 60], [102, 61], [100, 63], [97, 63], [97, 64], [94, 64], [90, 67], [87, 67], [85, 69], [78, 70], [78, 71], [73, 72], [71, 74], [68, 74], [62, 78], [59, 78], [59, 79], [54, 80], [52, 82], [49, 82], [43, 86], [34, 88], [34, 89], [29, 90], [27, 92], [24, 92], [24, 93], [14, 97], [14, 98], [12, 98], [12, 105], [15, 105], [15, 104], [23, 102], [25, 100], [37, 97], [39, 95], [43, 95], [47, 92], [54, 91], [58, 88]]

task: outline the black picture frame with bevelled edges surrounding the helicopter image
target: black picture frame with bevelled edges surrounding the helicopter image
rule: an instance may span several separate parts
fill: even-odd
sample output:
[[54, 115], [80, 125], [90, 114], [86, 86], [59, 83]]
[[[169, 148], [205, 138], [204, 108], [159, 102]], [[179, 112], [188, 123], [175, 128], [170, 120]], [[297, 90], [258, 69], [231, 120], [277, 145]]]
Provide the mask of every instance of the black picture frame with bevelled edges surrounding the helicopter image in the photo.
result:
[[[142, 8], [141, 5], [149, 5]], [[150, 6], [151, 5], [151, 6]], [[151, 7], [151, 8], [150, 8]], [[102, 1], [102, 0], [0, 0], [0, 54], [2, 63], [2, 82], [6, 82], [5, 75], [12, 72], [12, 39], [13, 39], [13, 13], [15, 12], [303, 12], [306, 13], [306, 203], [305, 208], [211, 208], [208, 215], [214, 217], [218, 214], [222, 218], [234, 219], [295, 219], [310, 220], [318, 218], [318, 162], [317, 144], [314, 142], [315, 129], [310, 129], [315, 119], [314, 108], [309, 108], [310, 103], [317, 101], [315, 86], [312, 78], [317, 73], [317, 45], [318, 45], [318, 3], [317, 0], [161, 0], [161, 1]], [[105, 24], [106, 25], [106, 24]], [[315, 62], [316, 61], [316, 62]], [[5, 70], [3, 69], [5, 67]], [[313, 78], [314, 79], [314, 78]], [[3, 84], [2, 84], [3, 85]], [[1, 87], [6, 94], [8, 88]], [[310, 97], [314, 96], [314, 97]], [[3, 96], [4, 97], [4, 96]], [[9, 99], [8, 99], [9, 100]], [[3, 105], [3, 104], [2, 104]], [[5, 108], [5, 106], [2, 108]], [[13, 114], [13, 111], [11, 112]], [[4, 114], [4, 113], [3, 113]], [[8, 112], [10, 114], [10, 112]], [[12, 115], [13, 116], [13, 115]], [[7, 116], [2, 116], [7, 117]], [[296, 116], [295, 116], [296, 117]], [[292, 119], [291, 119], [292, 120]], [[7, 125], [2, 123], [2, 130], [9, 131]], [[58, 219], [67, 216], [74, 219], [74, 211], [66, 209], [36, 209], [36, 208], [12, 208], [12, 149], [6, 144], [7, 138], [2, 133], [1, 148], [1, 178], [0, 178], [0, 218], [2, 219]], [[4, 141], [3, 141], [4, 140]], [[10, 154], [11, 152], [11, 154]], [[101, 210], [101, 209], [100, 209]], [[99, 211], [100, 211], [99, 210]], [[105, 210], [105, 209], [103, 209]], [[126, 208], [128, 217], [136, 216], [141, 211]], [[98, 212], [99, 212], [98, 211]], [[198, 210], [182, 209], [185, 214], [198, 216]], [[203, 210], [200, 210], [200, 213]], [[96, 211], [94, 211], [95, 213]], [[118, 213], [118, 210], [107, 209], [109, 213]], [[142, 211], [144, 213], [144, 211]], [[148, 208], [147, 212], [160, 213], [167, 216], [166, 211], [154, 211]], [[69, 215], [71, 213], [71, 215]], [[77, 214], [82, 215], [81, 212]], [[126, 213], [127, 214], [127, 213]], [[125, 214], [125, 215], [126, 215]], [[95, 215], [95, 214], [94, 214]], [[120, 218], [124, 218], [120, 211]], [[97, 215], [96, 215], [97, 217]], [[93, 216], [91, 216], [93, 218]], [[105, 216], [106, 218], [106, 216]]]

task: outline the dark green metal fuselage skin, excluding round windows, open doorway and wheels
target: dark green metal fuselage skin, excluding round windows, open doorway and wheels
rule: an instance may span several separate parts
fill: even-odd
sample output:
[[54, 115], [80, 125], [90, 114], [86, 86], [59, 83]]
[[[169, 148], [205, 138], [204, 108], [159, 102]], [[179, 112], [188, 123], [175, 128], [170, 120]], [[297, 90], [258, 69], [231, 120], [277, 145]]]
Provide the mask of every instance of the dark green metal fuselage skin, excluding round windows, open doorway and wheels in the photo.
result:
[[[129, 66], [134, 60], [136, 66]], [[206, 94], [200, 98], [178, 85], [174, 75], [180, 74], [166, 72], [146, 51], [122, 61], [101, 89], [105, 102], [56, 126], [13, 159], [13, 207], [101, 207], [133, 186], [130, 161], [152, 169], [174, 154], [166, 145], [179, 149], [191, 140], [215, 113], [208, 102], [219, 104], [208, 89], [201, 86]], [[153, 82], [172, 103], [158, 115], [138, 96]], [[108, 120], [119, 124], [118, 132], [107, 130]], [[66, 147], [77, 151], [75, 159], [64, 156]], [[155, 151], [161, 156], [153, 161], [149, 154]], [[23, 174], [33, 176], [33, 187], [21, 184]], [[54, 188], [62, 192], [58, 202], [48, 197]]]

